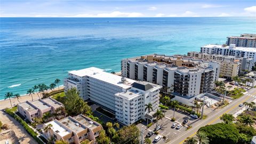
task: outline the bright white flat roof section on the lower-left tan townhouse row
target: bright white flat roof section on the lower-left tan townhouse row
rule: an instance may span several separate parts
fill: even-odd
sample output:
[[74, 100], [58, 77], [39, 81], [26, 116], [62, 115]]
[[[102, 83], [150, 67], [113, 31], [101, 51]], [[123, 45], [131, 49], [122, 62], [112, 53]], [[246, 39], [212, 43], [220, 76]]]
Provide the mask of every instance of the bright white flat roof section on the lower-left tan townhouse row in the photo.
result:
[[52, 124], [51, 129], [58, 133], [61, 137], [64, 137], [65, 135], [71, 133], [70, 130], [68, 130], [66, 127], [62, 126], [62, 124], [60, 124], [59, 122], [57, 122], [56, 120], [51, 121], [49, 123], [46, 123], [46, 125], [48, 124]]

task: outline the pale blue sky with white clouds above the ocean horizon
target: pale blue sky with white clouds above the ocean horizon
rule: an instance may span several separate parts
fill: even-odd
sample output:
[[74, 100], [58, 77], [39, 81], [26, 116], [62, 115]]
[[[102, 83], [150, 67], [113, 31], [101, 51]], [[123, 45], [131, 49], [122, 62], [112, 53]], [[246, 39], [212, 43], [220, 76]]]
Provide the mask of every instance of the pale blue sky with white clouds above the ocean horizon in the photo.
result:
[[256, 1], [0, 1], [1, 17], [255, 17]]

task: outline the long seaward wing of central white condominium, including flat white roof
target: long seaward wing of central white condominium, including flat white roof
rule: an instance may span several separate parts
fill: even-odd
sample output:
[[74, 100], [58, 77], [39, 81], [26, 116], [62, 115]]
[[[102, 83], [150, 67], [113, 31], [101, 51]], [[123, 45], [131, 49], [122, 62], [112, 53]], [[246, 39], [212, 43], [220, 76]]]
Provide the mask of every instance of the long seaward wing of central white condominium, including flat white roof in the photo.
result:
[[65, 92], [75, 87], [84, 100], [92, 100], [105, 106], [108, 110], [115, 111], [115, 94], [129, 90], [132, 79], [122, 82], [122, 77], [106, 73], [103, 69], [91, 67], [68, 72], [64, 81]]

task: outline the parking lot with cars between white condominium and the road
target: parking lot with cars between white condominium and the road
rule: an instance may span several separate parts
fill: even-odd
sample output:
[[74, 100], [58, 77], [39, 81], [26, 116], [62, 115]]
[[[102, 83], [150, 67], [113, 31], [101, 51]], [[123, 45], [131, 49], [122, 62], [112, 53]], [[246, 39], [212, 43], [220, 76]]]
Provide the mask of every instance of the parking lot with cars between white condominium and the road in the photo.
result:
[[[191, 118], [188, 113], [185, 113], [182, 111], [178, 111], [178, 112], [175, 111], [175, 118], [176, 118], [175, 122], [171, 121], [172, 117], [173, 117], [173, 110], [168, 110], [165, 113], [165, 117], [158, 120], [158, 125], [161, 126], [161, 129], [157, 131], [158, 134], [151, 135], [150, 140], [152, 141], [152, 143], [165, 143], [166, 140], [163, 139], [163, 137], [166, 137], [168, 140], [171, 141], [172, 139], [178, 137], [179, 134], [186, 131], [187, 125], [194, 125], [196, 122], [199, 121], [199, 118], [198, 119]], [[177, 130], [176, 129], [177, 125], [182, 124], [182, 122], [185, 119], [188, 119], [188, 123], [186, 123], [185, 125], [182, 125], [180, 127], [180, 129]], [[171, 128], [173, 123], [177, 123], [177, 125], [174, 128]], [[143, 130], [143, 139], [146, 138], [146, 135], [148, 132], [154, 131], [154, 129], [156, 127], [156, 123], [154, 123], [152, 126], [150, 126], [146, 130], [146, 125], [147, 125], [146, 122], [143, 122], [143, 123], [140, 123], [137, 125], [137, 127], [139, 127], [140, 130]], [[159, 135], [161, 137], [161, 139], [158, 142], [155, 142], [154, 138], [157, 135]]]

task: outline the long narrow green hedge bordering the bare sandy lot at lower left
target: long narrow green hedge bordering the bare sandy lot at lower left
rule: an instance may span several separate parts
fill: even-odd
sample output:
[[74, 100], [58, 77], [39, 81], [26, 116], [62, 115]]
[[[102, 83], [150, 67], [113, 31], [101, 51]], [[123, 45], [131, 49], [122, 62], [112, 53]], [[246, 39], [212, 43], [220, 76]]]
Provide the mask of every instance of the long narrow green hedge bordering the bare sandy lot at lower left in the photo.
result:
[[23, 121], [23, 119], [21, 119], [18, 115], [13, 113], [9, 108], [5, 109], [5, 113], [7, 113], [11, 117], [13, 117], [16, 121], [18, 121], [25, 128], [25, 130], [31, 135], [31, 137], [33, 137], [36, 140], [37, 143], [44, 144], [39, 138], [37, 138], [37, 133], [33, 129], [31, 129], [28, 126], [28, 124], [25, 121]]

